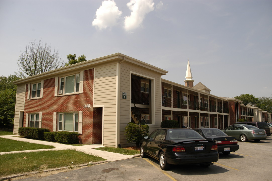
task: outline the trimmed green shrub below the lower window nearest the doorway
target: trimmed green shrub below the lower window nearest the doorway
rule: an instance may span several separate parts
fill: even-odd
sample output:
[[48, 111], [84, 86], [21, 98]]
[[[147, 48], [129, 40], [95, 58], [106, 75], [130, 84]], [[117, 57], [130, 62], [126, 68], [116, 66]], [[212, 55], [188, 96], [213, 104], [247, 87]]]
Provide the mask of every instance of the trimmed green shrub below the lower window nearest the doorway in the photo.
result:
[[78, 132], [58, 131], [55, 132], [54, 138], [58, 143], [77, 144], [79, 143], [78, 135]]

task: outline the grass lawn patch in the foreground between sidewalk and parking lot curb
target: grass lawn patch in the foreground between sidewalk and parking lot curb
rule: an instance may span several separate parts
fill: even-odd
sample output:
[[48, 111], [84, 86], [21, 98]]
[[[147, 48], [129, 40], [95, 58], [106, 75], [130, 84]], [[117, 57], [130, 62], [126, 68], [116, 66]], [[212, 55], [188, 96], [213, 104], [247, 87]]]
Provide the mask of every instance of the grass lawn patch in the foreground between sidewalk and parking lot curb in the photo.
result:
[[75, 150], [5, 154], [0, 155], [0, 176], [103, 160], [106, 159]]

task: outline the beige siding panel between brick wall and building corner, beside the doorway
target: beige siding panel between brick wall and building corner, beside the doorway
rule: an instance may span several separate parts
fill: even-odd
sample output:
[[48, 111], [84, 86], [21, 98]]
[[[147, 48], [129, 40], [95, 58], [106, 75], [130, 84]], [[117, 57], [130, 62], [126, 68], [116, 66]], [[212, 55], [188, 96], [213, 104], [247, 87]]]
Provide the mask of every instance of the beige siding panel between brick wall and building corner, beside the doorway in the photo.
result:
[[103, 146], [116, 145], [116, 63], [95, 67], [94, 106], [104, 105]]

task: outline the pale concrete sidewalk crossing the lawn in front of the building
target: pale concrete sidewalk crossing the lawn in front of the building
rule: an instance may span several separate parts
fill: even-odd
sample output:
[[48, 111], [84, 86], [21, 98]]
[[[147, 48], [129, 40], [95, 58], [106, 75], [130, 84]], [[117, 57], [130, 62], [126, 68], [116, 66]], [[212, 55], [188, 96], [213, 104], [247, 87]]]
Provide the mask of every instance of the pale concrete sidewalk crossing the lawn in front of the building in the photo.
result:
[[41, 140], [32, 140], [27, 138], [19, 138], [14, 137], [17, 135], [7, 135], [7, 136], [0, 136], [1, 138], [7, 138], [17, 141], [23, 141], [23, 142], [29, 142], [29, 143], [38, 143], [42, 145], [52, 145], [55, 148], [52, 149], [40, 149], [40, 150], [24, 150], [24, 151], [13, 151], [13, 152], [0, 152], [0, 155], [3, 154], [10, 154], [10, 153], [22, 153], [22, 152], [35, 152], [35, 151], [47, 151], [47, 150], [64, 150], [64, 149], [74, 149], [76, 151], [81, 151], [89, 155], [94, 155], [97, 157], [102, 157], [104, 159], [107, 159], [108, 161], [116, 161], [121, 159], [127, 159], [127, 158], [134, 158], [140, 156], [140, 153], [137, 155], [123, 155], [119, 153], [113, 153], [113, 152], [107, 152], [102, 150], [96, 150], [94, 148], [100, 148], [103, 147], [101, 144], [98, 145], [84, 145], [84, 146], [72, 146], [72, 145], [64, 145], [61, 143], [53, 143], [53, 142], [47, 142], [47, 141], [41, 141]]

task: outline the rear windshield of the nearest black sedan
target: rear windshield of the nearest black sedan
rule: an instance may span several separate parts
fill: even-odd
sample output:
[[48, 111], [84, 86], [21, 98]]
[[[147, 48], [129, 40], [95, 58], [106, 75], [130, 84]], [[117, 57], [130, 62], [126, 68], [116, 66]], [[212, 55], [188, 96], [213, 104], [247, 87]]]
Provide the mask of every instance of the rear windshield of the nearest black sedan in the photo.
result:
[[177, 139], [204, 139], [199, 133], [194, 130], [188, 129], [173, 129], [168, 130], [167, 135], [169, 140]]

